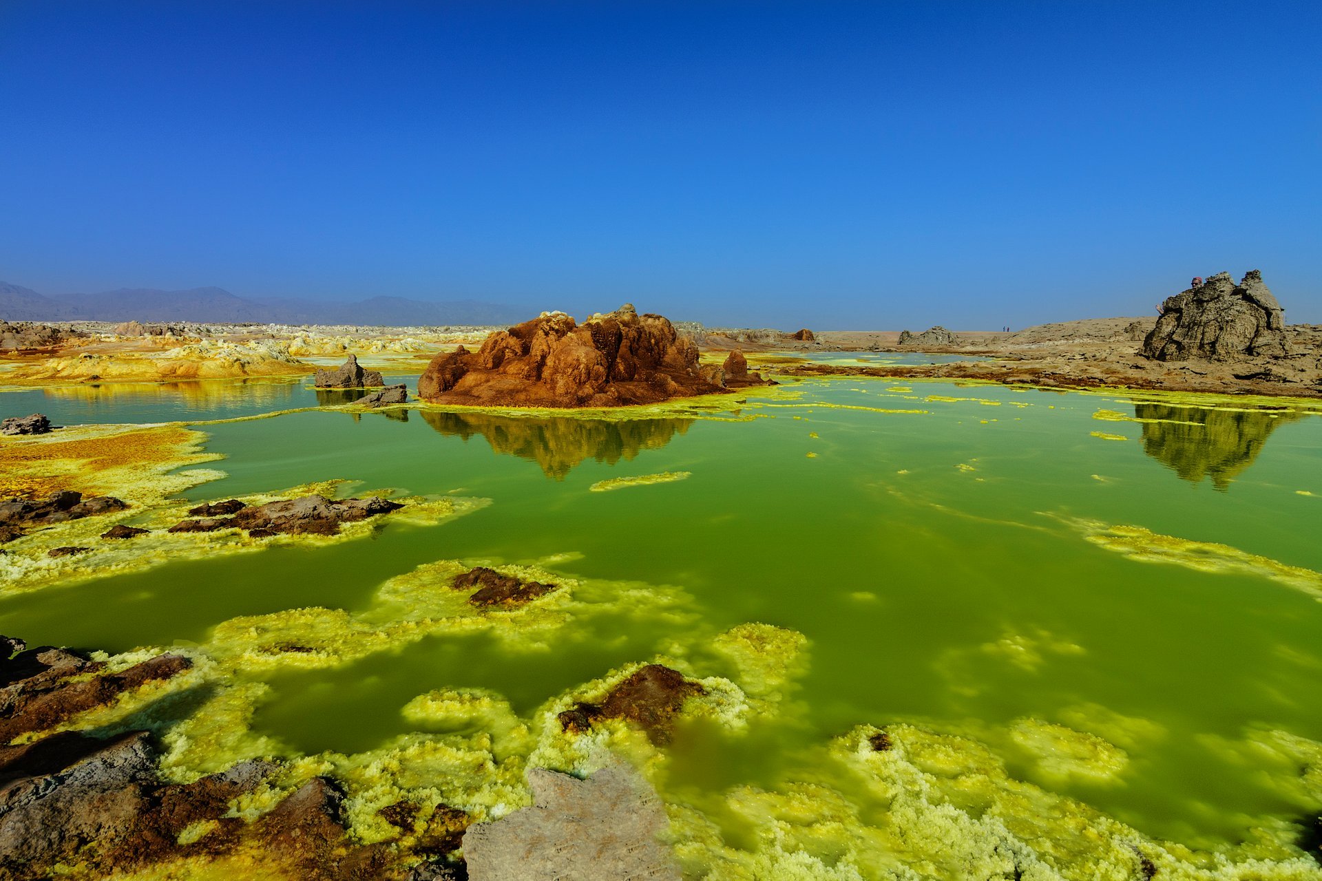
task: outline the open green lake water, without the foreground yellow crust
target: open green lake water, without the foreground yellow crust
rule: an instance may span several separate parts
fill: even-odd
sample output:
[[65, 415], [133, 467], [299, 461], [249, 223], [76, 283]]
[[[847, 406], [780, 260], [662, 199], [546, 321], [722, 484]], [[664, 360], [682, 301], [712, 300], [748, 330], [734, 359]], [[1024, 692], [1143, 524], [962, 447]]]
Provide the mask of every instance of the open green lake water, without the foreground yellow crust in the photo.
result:
[[[58, 416], [200, 421], [340, 403], [300, 384], [206, 388], [70, 395]], [[50, 392], [0, 395], [5, 415], [40, 407], [19, 394]], [[914, 722], [974, 737], [1013, 777], [1191, 847], [1317, 815], [1281, 783], [1297, 769], [1247, 744], [1261, 730], [1322, 740], [1322, 582], [1282, 575], [1322, 571], [1322, 416], [1261, 399], [859, 378], [791, 379], [744, 400], [720, 419], [312, 409], [202, 425], [227, 477], [190, 499], [340, 478], [345, 493], [489, 503], [328, 547], [4, 594], [0, 629], [112, 652], [205, 645], [238, 616], [370, 614], [383, 581], [434, 560], [535, 563], [584, 584], [673, 589], [682, 613], [602, 596], [571, 637], [537, 651], [473, 631], [253, 674], [267, 686], [254, 730], [291, 754], [358, 753], [418, 730], [402, 708], [428, 689], [490, 689], [527, 719], [662, 655], [735, 678], [706, 643], [763, 622], [808, 639], [788, 703], [738, 736], [681, 724], [665, 799], [706, 808], [734, 786], [829, 779], [816, 748], [862, 724]], [[590, 490], [664, 472], [690, 476]], [[1023, 720], [1097, 734], [1128, 762], [1052, 770]], [[736, 826], [723, 824], [731, 841]]]

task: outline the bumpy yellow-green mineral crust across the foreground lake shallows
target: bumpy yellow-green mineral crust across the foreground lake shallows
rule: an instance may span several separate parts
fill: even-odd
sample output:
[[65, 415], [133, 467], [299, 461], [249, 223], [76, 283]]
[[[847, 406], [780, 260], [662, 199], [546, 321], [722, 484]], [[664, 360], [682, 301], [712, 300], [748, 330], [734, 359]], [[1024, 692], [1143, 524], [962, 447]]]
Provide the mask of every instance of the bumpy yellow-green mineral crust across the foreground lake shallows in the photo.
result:
[[[467, 592], [449, 586], [473, 564], [558, 588], [517, 609], [476, 609]], [[582, 637], [591, 630], [580, 626], [588, 616], [621, 613], [664, 622], [673, 634], [664, 652], [571, 687], [527, 717], [490, 689], [435, 688], [405, 701], [401, 719], [447, 733], [412, 732], [362, 753], [299, 756], [251, 729], [255, 709], [268, 699], [260, 682], [268, 672], [338, 667], [426, 635], [476, 631], [500, 639], [504, 651], [537, 654], [594, 638]], [[1059, 641], [1038, 634], [1032, 642]], [[286, 650], [290, 645], [297, 651]], [[1243, 844], [1216, 851], [1154, 841], [1084, 803], [1010, 777], [1003, 759], [978, 738], [912, 724], [859, 725], [808, 748], [795, 774], [769, 789], [672, 790], [670, 753], [640, 729], [604, 720], [586, 732], [567, 732], [557, 715], [576, 701], [600, 701], [644, 663], [662, 663], [703, 687], [686, 701], [683, 724], [710, 724], [739, 738], [755, 725], [792, 722], [802, 712], [787, 696], [808, 670], [810, 650], [802, 634], [765, 623], [706, 631], [693, 600], [678, 588], [571, 579], [537, 563], [440, 560], [390, 579], [362, 612], [300, 609], [234, 618], [208, 642], [176, 650], [194, 660], [190, 671], [83, 713], [69, 726], [97, 726], [107, 734], [155, 726], [167, 750], [163, 770], [177, 781], [245, 758], [284, 757], [268, 783], [233, 803], [231, 814], [247, 819], [271, 810], [312, 775], [328, 774], [346, 791], [352, 833], [379, 841], [397, 835], [377, 814], [394, 802], [444, 803], [473, 820], [498, 819], [530, 802], [527, 767], [584, 775], [623, 759], [665, 800], [670, 841], [693, 877], [936, 880], [1019, 873], [1034, 880], [1129, 881], [1142, 877], [1146, 860], [1159, 877], [1194, 881], [1322, 878], [1322, 866], [1292, 847], [1293, 831], [1284, 826], [1255, 828]], [[156, 651], [107, 660], [116, 670]], [[210, 696], [182, 721], [160, 709], [172, 693], [204, 684]], [[1132, 752], [1165, 736], [1153, 722], [1091, 705], [1071, 708], [1055, 722], [1021, 719], [1003, 732], [985, 733], [1014, 745], [1048, 779], [1099, 783], [1121, 779]], [[1301, 812], [1322, 808], [1322, 745], [1260, 730], [1215, 746], [1274, 757], [1272, 779], [1281, 791]], [[189, 833], [205, 837], [206, 829]], [[247, 859], [241, 852], [215, 863], [190, 860], [137, 877], [209, 877], [222, 866], [251, 870]]]

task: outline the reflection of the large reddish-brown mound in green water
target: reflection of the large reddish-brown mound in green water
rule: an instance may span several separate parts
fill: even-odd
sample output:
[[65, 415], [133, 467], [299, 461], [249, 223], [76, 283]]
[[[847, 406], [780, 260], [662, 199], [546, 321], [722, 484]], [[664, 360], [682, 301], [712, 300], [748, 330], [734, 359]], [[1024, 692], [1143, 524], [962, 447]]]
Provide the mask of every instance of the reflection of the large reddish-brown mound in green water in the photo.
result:
[[613, 465], [631, 460], [645, 449], [660, 449], [678, 432], [683, 435], [691, 419], [631, 419], [607, 421], [551, 416], [521, 419], [489, 413], [447, 413], [423, 409], [419, 415], [442, 435], [468, 440], [481, 435], [492, 449], [506, 456], [530, 458], [547, 477], [564, 479], [586, 458]]

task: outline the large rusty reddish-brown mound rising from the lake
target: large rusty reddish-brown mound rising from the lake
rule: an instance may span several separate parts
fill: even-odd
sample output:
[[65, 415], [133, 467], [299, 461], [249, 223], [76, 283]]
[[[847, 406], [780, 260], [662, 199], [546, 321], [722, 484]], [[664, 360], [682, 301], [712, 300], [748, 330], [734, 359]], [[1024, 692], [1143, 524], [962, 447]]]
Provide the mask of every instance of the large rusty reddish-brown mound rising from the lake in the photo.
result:
[[582, 325], [543, 313], [436, 355], [418, 380], [418, 396], [443, 404], [488, 407], [623, 407], [711, 395], [764, 384], [758, 374], [730, 382], [714, 365], [698, 365], [698, 346], [662, 316], [624, 305]]

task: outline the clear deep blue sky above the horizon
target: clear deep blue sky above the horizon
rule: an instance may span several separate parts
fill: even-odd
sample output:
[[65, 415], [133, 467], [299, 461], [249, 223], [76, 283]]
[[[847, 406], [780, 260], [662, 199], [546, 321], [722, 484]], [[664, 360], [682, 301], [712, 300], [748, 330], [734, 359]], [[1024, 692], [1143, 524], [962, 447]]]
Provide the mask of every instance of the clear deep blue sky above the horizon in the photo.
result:
[[1322, 3], [0, 0], [0, 279], [1322, 322]]

